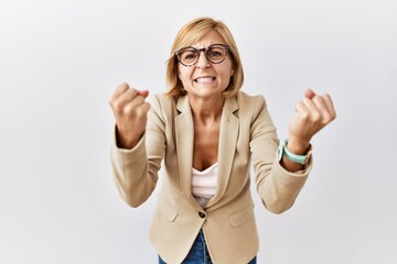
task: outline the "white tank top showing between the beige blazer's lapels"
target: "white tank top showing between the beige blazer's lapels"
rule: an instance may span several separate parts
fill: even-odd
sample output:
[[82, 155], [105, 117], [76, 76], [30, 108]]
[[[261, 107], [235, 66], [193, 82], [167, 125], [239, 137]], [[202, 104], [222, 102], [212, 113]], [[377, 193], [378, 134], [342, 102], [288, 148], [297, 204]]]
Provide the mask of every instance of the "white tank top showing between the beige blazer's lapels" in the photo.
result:
[[211, 167], [202, 172], [192, 168], [192, 194], [202, 207], [204, 207], [216, 193], [217, 168], [218, 163], [214, 163]]

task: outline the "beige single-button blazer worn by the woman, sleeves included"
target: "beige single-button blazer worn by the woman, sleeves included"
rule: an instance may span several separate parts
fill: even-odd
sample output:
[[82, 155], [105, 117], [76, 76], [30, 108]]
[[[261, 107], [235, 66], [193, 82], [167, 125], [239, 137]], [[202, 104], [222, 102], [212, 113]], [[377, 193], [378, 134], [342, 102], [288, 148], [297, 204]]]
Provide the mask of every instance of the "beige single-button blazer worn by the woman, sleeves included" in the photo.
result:
[[191, 191], [193, 119], [187, 97], [151, 99], [146, 134], [132, 150], [111, 147], [116, 186], [131, 207], [152, 194], [163, 165], [150, 239], [167, 263], [181, 263], [203, 229], [213, 263], [248, 263], [259, 249], [250, 166], [265, 207], [281, 213], [294, 202], [311, 169], [288, 173], [277, 161], [279, 140], [264, 97], [239, 91], [225, 101], [215, 196], [202, 208]]

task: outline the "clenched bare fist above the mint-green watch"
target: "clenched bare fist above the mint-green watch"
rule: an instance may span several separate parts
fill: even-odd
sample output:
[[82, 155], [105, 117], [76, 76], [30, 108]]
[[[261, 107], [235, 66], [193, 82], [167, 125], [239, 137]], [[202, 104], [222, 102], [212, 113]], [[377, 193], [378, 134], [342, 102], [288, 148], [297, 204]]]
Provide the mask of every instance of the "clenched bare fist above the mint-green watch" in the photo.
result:
[[289, 123], [288, 148], [299, 154], [304, 152], [311, 139], [336, 117], [329, 95], [319, 96], [311, 89], [304, 92], [303, 100], [296, 106], [296, 113]]

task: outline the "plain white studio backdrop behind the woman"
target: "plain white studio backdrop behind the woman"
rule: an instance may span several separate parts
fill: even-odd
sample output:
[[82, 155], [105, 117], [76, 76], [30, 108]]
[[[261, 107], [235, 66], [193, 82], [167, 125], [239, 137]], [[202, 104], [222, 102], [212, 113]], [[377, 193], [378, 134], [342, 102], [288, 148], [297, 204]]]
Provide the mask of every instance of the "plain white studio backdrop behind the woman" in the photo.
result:
[[164, 91], [172, 41], [201, 15], [232, 30], [280, 139], [308, 87], [337, 111], [289, 211], [253, 186], [259, 263], [397, 263], [395, 0], [1, 0], [0, 263], [157, 263], [158, 190], [121, 201], [108, 99], [122, 81]]

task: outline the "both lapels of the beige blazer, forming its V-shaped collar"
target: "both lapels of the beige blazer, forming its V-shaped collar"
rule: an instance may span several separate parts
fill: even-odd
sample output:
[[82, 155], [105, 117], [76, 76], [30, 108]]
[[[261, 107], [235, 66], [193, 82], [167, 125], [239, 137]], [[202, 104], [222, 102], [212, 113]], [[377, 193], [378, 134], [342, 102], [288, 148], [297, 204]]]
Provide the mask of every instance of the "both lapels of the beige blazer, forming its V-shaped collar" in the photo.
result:
[[[194, 129], [187, 96], [178, 99], [176, 109], [180, 111], [180, 114], [175, 118], [175, 138], [181, 187], [190, 204], [200, 209], [198, 202], [192, 195], [191, 187]], [[232, 174], [233, 158], [238, 136], [239, 121], [234, 114], [237, 110], [238, 103], [236, 97], [227, 98], [223, 107], [219, 127], [217, 189], [215, 196], [208, 201], [206, 207], [216, 204], [226, 191], [227, 183]]]

